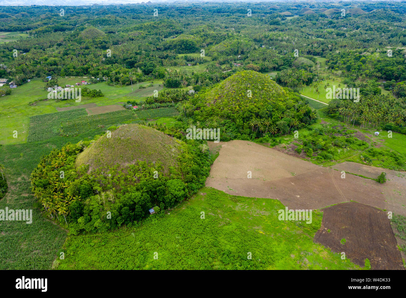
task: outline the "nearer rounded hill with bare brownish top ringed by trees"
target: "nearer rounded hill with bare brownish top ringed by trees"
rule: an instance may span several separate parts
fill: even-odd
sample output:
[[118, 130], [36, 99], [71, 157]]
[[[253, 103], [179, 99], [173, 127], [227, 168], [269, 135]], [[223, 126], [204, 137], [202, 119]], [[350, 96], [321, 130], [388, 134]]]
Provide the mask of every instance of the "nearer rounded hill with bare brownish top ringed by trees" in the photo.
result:
[[72, 234], [106, 232], [187, 199], [204, 185], [210, 164], [199, 143], [132, 124], [52, 150], [30, 180], [46, 213]]

